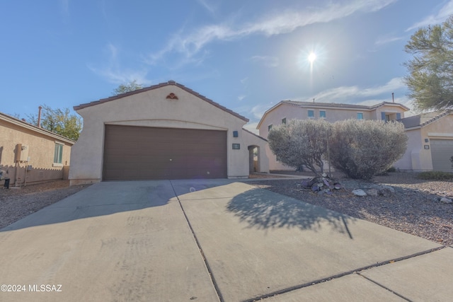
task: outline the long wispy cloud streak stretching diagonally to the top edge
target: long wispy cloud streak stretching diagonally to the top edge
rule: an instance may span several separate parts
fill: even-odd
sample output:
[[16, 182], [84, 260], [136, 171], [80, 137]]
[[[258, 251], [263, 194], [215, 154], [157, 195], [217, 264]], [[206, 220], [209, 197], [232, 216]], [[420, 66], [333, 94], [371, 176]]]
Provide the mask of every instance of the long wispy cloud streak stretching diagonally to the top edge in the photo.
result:
[[297, 28], [314, 23], [327, 23], [345, 18], [357, 12], [372, 12], [389, 6], [398, 0], [352, 0], [343, 3], [329, 1], [326, 6], [307, 8], [304, 11], [287, 10], [274, 15], [263, 16], [254, 22], [226, 22], [195, 28], [190, 33], [177, 33], [168, 41], [166, 47], [149, 55], [147, 62], [154, 64], [169, 52], [192, 57], [205, 45], [215, 40], [236, 40], [248, 35], [280, 35], [291, 33]]

